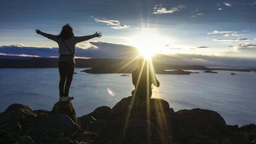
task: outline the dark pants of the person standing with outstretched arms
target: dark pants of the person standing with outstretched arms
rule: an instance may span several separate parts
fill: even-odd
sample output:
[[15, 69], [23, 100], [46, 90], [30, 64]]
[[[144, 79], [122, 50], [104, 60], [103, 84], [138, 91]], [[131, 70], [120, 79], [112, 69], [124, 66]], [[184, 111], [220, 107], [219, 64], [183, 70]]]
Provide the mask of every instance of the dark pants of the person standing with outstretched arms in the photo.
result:
[[74, 69], [74, 64], [59, 62], [59, 96], [69, 96]]

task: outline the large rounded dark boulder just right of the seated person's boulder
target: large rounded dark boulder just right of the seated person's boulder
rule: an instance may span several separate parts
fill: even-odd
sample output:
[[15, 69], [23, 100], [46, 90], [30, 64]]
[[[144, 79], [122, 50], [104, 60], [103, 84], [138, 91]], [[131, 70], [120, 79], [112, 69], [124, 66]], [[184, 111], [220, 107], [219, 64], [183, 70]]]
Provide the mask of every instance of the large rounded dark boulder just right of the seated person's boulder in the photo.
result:
[[183, 109], [175, 112], [176, 137], [180, 140], [187, 138], [221, 139], [227, 132], [226, 122], [215, 111], [207, 109]]

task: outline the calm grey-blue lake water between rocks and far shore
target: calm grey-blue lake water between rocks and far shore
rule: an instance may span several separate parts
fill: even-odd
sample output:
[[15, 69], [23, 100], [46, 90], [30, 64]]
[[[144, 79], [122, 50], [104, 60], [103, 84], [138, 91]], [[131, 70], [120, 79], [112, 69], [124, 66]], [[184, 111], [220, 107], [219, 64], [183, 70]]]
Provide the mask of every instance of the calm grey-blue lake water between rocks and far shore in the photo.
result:
[[[75, 69], [70, 95], [78, 116], [98, 106], [113, 107], [133, 90], [131, 75], [86, 74]], [[194, 70], [195, 71], [195, 70]], [[161, 75], [153, 97], [169, 102], [174, 111], [202, 108], [217, 111], [228, 124], [256, 123], [256, 73]], [[58, 69], [0, 69], [0, 111], [12, 103], [51, 110], [58, 101]], [[109, 91], [112, 91], [109, 93]]]

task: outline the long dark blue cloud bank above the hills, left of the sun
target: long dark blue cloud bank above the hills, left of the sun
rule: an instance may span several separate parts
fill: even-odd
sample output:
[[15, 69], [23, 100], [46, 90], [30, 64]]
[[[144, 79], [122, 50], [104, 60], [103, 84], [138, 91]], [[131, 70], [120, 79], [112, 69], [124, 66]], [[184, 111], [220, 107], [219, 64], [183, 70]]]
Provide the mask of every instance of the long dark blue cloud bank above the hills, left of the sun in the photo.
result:
[[[75, 48], [75, 58], [134, 58], [138, 55], [137, 49], [123, 44], [104, 41], [89, 42], [89, 47]], [[19, 57], [58, 57], [58, 48], [36, 48], [20, 45], [0, 46], [0, 56]]]

